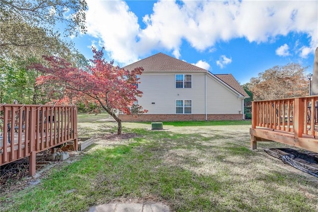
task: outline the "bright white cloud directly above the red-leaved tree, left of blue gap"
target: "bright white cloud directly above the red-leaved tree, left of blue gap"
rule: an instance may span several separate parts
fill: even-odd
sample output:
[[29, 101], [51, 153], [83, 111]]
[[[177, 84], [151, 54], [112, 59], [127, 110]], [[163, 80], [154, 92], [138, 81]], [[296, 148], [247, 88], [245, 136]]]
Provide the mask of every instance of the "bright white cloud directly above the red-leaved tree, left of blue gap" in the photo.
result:
[[138, 60], [138, 18], [126, 2], [87, 0], [87, 5], [87, 34], [101, 39], [106, 52], [115, 61], [128, 64]]

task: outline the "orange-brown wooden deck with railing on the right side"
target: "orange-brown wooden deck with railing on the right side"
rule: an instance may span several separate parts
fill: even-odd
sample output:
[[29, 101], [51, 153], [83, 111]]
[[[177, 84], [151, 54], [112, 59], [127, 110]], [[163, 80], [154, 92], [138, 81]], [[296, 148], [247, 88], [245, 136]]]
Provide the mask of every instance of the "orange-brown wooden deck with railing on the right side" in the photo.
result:
[[318, 96], [252, 102], [251, 149], [276, 141], [318, 152]]

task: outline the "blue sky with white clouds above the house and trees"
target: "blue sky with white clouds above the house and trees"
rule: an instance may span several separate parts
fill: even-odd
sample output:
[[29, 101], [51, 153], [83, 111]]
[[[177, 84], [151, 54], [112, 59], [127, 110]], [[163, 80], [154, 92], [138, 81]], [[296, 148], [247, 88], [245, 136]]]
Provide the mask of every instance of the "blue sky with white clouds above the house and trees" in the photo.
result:
[[121, 67], [161, 52], [241, 84], [276, 65], [313, 71], [317, 0], [86, 1], [87, 33], [73, 42], [88, 59], [91, 46]]

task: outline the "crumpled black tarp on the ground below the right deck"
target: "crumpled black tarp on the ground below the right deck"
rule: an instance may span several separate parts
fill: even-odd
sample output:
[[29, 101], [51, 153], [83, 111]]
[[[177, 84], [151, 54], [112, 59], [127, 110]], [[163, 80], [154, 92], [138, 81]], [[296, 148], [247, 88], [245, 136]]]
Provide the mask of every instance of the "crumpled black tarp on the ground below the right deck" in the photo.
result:
[[281, 159], [303, 172], [318, 177], [318, 154], [310, 151], [301, 152], [291, 148], [266, 148], [265, 152], [273, 157]]

